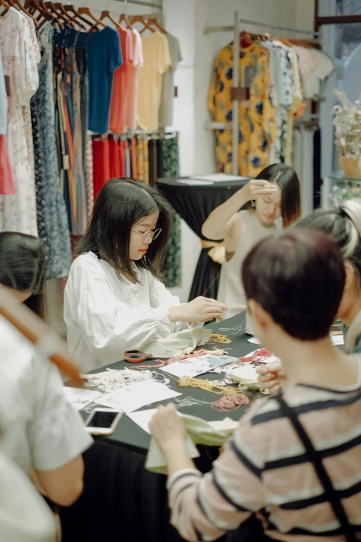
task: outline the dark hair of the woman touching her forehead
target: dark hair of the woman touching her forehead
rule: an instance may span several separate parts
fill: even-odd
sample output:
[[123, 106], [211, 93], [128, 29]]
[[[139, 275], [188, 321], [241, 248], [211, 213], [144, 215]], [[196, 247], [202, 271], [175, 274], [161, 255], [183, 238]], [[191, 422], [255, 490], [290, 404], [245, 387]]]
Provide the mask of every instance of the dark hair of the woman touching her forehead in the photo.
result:
[[281, 215], [284, 228], [291, 226], [301, 217], [301, 193], [297, 173], [286, 164], [268, 165], [257, 175], [257, 179], [277, 183], [281, 188]]

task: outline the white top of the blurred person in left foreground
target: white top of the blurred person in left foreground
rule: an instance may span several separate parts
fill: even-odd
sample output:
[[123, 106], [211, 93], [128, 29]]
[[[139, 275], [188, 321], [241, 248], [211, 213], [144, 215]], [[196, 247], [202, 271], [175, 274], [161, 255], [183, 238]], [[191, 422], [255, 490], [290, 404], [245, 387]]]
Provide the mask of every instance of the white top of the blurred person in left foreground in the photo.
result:
[[55, 365], [2, 316], [0, 361], [0, 453], [30, 476], [59, 469], [91, 446]]

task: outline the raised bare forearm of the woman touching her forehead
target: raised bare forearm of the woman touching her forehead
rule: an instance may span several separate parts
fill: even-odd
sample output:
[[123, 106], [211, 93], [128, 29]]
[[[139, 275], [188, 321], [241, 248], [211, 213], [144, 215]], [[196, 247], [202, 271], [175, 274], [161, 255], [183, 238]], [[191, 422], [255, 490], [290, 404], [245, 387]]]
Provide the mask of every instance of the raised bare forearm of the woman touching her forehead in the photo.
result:
[[228, 223], [248, 201], [250, 201], [250, 190], [246, 185], [212, 211], [202, 226], [203, 235], [212, 240], [224, 239]]

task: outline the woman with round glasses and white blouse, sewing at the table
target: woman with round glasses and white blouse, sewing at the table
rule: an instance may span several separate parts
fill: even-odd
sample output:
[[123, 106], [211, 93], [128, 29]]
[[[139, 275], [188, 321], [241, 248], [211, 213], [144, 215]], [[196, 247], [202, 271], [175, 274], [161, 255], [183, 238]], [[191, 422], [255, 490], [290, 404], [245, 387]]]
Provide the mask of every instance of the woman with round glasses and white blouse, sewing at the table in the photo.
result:
[[165, 199], [140, 181], [113, 179], [100, 191], [64, 294], [68, 349], [83, 372], [222, 319], [221, 302], [180, 305], [160, 282], [171, 223]]

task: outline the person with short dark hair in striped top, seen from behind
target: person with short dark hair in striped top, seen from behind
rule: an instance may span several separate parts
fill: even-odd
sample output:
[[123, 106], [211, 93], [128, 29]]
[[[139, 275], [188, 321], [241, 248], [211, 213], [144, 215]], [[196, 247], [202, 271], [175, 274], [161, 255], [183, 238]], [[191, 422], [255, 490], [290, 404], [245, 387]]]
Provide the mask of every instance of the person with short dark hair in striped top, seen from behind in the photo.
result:
[[[361, 361], [337, 350], [328, 334], [344, 290], [340, 250], [321, 233], [294, 229], [255, 246], [242, 278], [255, 332], [283, 361], [283, 399], [361, 533]], [[246, 542], [257, 517], [268, 539], [345, 540], [329, 494], [273, 397], [253, 404], [205, 476], [187, 457], [174, 406], [159, 407], [150, 429], [167, 459], [172, 523], [185, 539], [212, 541], [243, 525], [237, 539]]]

